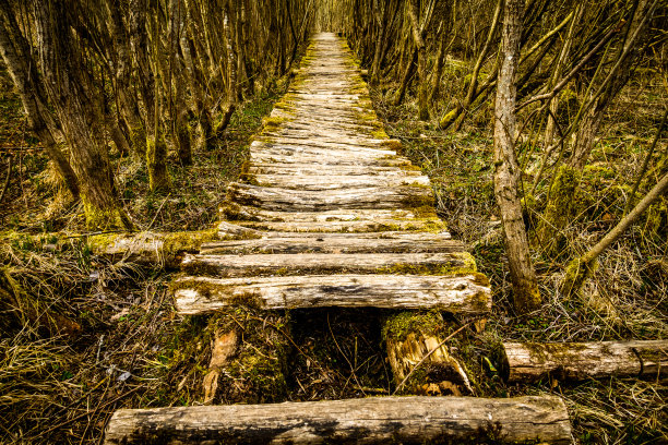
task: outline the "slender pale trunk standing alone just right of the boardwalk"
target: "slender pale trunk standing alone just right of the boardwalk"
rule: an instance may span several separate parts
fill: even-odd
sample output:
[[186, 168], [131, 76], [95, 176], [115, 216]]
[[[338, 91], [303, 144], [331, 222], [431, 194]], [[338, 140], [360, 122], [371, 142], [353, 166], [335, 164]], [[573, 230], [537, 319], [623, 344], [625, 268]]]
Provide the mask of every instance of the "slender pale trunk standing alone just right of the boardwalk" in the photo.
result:
[[515, 75], [522, 37], [524, 0], [508, 0], [504, 8], [501, 71], [494, 106], [494, 195], [505, 237], [505, 249], [518, 313], [538, 309], [540, 294], [530, 261], [520, 202], [521, 170], [515, 153]]

